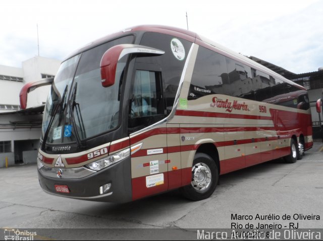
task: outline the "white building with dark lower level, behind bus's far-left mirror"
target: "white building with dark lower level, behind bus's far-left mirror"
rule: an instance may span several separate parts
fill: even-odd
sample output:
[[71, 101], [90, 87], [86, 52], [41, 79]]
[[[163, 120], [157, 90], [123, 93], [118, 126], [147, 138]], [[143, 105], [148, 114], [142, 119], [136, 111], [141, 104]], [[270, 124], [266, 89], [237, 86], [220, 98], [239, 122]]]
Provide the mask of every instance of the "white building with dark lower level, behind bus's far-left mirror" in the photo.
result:
[[27, 109], [20, 110], [19, 93], [28, 82], [52, 77], [61, 61], [33, 57], [22, 68], [0, 65], [0, 167], [36, 161], [43, 104], [49, 86], [28, 94]]

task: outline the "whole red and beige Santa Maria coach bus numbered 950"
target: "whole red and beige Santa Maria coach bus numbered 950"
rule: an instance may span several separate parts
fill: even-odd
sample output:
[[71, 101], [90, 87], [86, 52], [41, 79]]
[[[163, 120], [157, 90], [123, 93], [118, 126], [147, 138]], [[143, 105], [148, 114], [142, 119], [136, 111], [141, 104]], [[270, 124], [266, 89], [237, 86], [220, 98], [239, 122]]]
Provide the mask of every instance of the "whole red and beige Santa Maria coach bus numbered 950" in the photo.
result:
[[[51, 83], [52, 82], [52, 83]], [[137, 26], [96, 40], [51, 83], [37, 158], [42, 189], [128, 202], [181, 188], [209, 197], [219, 176], [311, 148], [306, 90], [196, 33]]]

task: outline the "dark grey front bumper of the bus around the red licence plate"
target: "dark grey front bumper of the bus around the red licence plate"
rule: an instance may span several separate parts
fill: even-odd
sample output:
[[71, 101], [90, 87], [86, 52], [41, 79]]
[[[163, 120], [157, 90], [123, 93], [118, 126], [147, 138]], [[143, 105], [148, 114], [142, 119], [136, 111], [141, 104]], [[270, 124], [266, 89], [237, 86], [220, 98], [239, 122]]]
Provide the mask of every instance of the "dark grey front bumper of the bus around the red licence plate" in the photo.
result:
[[[83, 178], [66, 179], [64, 175], [62, 178], [54, 177], [52, 172], [56, 170], [58, 169], [51, 170], [51, 175], [48, 175], [42, 169], [38, 169], [39, 184], [46, 193], [89, 201], [116, 203], [132, 201], [130, 156]], [[64, 173], [69, 170], [61, 169], [61, 171]], [[106, 193], [100, 194], [100, 187], [106, 184], [111, 184], [111, 188]], [[58, 192], [57, 185], [67, 186], [69, 193]]]

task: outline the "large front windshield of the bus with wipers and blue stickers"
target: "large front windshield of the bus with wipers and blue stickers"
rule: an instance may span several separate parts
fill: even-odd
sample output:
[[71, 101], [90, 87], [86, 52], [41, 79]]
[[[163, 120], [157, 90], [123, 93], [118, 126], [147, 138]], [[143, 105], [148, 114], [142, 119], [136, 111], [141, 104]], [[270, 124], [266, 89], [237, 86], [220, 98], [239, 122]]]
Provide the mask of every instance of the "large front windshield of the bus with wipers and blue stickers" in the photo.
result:
[[100, 60], [112, 46], [132, 41], [133, 36], [126, 36], [87, 50], [61, 64], [44, 110], [42, 139], [45, 143], [75, 142], [117, 127], [126, 57], [118, 63], [115, 84], [107, 88], [101, 85]]

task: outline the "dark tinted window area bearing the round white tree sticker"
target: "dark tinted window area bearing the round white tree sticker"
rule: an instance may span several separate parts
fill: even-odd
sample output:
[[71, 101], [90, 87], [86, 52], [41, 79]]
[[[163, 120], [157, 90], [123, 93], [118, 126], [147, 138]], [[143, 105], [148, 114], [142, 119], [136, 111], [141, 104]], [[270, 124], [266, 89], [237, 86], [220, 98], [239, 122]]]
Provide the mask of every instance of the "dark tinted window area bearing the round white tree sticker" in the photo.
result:
[[[180, 41], [183, 45], [185, 54], [178, 57], [173, 54], [176, 52], [176, 47], [178, 47], [176, 46], [176, 42], [178, 43], [178, 41], [174, 41], [174, 39]], [[163, 81], [165, 82], [167, 111], [170, 113], [174, 105], [186, 57], [192, 43], [171, 35], [145, 33], [140, 44], [165, 51], [165, 54], [163, 55], [140, 57], [137, 58], [136, 61], [140, 63], [154, 64], [160, 67], [159, 70], [162, 72]]]

